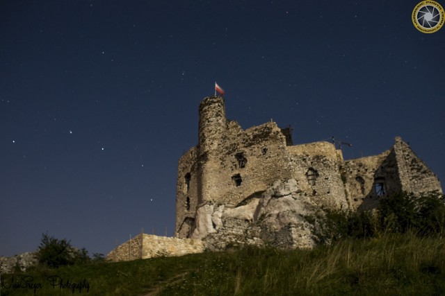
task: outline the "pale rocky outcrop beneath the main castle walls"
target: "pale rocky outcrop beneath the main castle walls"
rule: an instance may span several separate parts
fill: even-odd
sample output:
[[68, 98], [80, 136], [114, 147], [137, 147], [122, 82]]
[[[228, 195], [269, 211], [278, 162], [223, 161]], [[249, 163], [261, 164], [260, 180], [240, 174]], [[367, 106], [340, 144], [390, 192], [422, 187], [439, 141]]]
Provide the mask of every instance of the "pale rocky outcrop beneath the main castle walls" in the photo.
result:
[[230, 245], [311, 248], [316, 217], [324, 212], [298, 188], [296, 180], [277, 180], [260, 197], [239, 207], [204, 204], [197, 209], [192, 238], [209, 250]]

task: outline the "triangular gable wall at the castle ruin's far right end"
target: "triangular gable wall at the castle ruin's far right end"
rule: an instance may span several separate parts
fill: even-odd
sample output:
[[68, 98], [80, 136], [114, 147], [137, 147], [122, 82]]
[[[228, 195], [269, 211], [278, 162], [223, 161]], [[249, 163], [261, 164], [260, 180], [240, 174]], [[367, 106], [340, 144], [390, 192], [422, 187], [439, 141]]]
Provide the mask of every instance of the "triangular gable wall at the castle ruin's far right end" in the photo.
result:
[[424, 193], [439, 191], [442, 186], [435, 173], [417, 157], [410, 146], [396, 137], [394, 143], [394, 154], [398, 166], [398, 174], [401, 179], [401, 189], [412, 193]]

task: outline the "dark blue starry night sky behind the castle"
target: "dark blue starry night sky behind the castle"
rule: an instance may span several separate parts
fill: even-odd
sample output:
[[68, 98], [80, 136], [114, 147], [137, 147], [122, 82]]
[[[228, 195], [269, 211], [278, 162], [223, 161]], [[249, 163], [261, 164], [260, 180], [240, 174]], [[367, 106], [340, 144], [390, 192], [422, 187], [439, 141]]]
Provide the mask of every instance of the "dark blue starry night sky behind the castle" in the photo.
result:
[[401, 136], [445, 180], [445, 28], [417, 31], [418, 2], [0, 0], [0, 256], [172, 236], [215, 81], [243, 128], [346, 159]]

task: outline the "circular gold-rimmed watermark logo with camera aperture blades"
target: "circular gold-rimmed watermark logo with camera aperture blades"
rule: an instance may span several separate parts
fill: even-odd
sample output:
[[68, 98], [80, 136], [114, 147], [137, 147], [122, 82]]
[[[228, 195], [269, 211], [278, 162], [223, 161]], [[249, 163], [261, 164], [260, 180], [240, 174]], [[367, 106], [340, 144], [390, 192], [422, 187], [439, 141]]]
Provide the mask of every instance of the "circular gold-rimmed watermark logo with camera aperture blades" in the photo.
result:
[[412, 24], [422, 33], [435, 33], [444, 20], [444, 8], [435, 1], [421, 1], [412, 10]]

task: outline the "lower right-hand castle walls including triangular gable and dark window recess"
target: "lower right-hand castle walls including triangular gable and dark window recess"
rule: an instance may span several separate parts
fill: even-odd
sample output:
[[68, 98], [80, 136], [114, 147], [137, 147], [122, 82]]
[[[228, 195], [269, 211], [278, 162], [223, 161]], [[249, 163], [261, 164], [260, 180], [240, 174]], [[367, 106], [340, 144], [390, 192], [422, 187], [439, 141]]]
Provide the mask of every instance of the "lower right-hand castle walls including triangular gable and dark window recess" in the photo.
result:
[[346, 161], [341, 176], [352, 209], [373, 209], [382, 198], [400, 191], [442, 192], [437, 176], [400, 137], [380, 155]]

